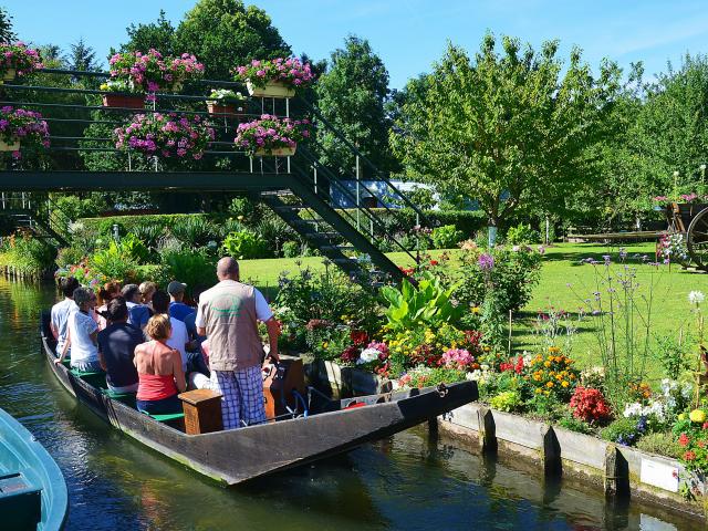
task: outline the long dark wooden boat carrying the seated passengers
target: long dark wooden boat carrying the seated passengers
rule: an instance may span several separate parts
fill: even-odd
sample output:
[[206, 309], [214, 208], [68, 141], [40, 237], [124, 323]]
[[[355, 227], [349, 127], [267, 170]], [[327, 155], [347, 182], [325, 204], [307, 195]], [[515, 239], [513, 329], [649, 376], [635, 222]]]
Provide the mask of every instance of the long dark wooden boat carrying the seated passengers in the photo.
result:
[[302, 400], [306, 410], [289, 419], [186, 435], [111, 398], [92, 385], [92, 378], [56, 365], [46, 312], [42, 314], [42, 343], [59, 382], [96, 415], [164, 456], [227, 486], [345, 452], [477, 399], [473, 382], [344, 400], [326, 399], [310, 389]]

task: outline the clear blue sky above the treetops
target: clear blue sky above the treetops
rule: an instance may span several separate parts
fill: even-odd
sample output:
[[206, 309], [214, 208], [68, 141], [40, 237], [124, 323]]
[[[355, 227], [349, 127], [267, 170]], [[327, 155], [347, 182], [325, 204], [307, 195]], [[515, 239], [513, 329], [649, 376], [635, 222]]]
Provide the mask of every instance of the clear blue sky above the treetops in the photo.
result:
[[[0, 0], [20, 37], [67, 49], [79, 37], [106, 56], [125, 41], [132, 22], [149, 22], [160, 8], [177, 22], [195, 0]], [[247, 1], [247, 3], [249, 3]], [[680, 62], [686, 51], [708, 48], [706, 0], [253, 0], [264, 9], [298, 54], [329, 58], [343, 38], [368, 39], [391, 73], [391, 86], [430, 70], [448, 40], [477, 50], [487, 30], [538, 48], [559, 38], [561, 50], [577, 44], [596, 66], [602, 58], [622, 66], [643, 60], [647, 74]]]

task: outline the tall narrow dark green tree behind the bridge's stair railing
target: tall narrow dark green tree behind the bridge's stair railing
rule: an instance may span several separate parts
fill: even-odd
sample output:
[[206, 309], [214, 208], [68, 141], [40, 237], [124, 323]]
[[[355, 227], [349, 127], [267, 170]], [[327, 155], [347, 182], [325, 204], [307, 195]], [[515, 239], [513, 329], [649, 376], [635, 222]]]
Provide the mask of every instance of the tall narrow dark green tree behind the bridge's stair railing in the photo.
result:
[[[395, 159], [388, 146], [391, 119], [385, 110], [388, 72], [365, 39], [350, 35], [344, 48], [332, 52], [331, 67], [316, 84], [322, 115], [382, 169], [392, 169]], [[352, 150], [330, 129], [320, 127], [317, 139], [322, 162], [341, 173], [355, 166]]]

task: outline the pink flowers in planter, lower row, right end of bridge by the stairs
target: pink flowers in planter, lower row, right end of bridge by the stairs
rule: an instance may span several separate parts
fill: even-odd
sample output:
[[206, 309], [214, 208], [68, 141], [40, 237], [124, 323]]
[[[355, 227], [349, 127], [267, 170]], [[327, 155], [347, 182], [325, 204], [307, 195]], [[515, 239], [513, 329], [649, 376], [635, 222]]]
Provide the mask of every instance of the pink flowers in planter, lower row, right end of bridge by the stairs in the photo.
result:
[[278, 118], [263, 114], [260, 119], [239, 124], [233, 143], [250, 156], [289, 157], [298, 142], [310, 136], [310, 121]]

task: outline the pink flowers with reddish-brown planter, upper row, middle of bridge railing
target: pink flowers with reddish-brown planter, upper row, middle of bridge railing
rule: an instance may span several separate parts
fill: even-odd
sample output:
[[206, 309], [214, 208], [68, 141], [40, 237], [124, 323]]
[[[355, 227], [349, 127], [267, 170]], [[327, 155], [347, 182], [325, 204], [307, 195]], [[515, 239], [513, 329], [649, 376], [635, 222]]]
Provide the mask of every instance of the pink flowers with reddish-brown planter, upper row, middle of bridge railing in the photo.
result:
[[111, 64], [111, 79], [101, 85], [106, 107], [143, 108], [155, 101], [156, 92], [179, 92], [185, 82], [201, 77], [204, 64], [194, 55], [163, 58], [157, 50], [116, 53]]

